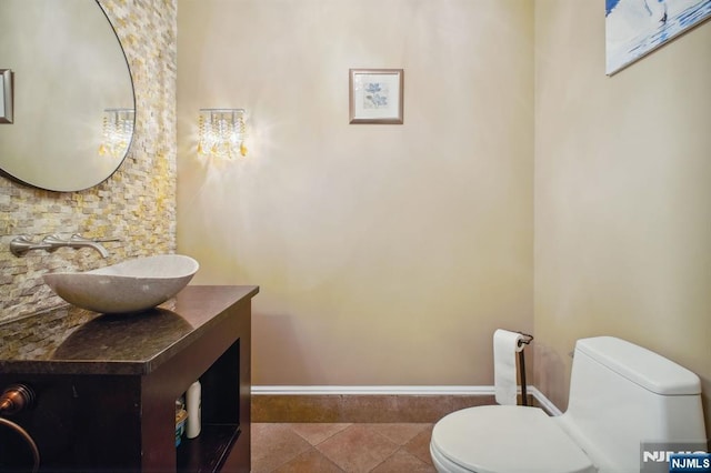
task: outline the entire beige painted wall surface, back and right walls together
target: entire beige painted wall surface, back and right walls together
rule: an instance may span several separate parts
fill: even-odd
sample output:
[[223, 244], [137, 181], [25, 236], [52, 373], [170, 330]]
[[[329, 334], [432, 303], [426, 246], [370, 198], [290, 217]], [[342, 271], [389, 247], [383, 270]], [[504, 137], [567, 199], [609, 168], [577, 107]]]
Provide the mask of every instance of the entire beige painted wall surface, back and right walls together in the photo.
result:
[[[179, 249], [262, 286], [257, 384], [490, 384], [534, 324], [561, 409], [598, 334], [709, 392], [711, 26], [608, 78], [599, 6], [530, 4], [180, 1]], [[404, 125], [347, 123], [350, 67], [404, 68]], [[247, 159], [196, 155], [201, 107], [249, 109]]]

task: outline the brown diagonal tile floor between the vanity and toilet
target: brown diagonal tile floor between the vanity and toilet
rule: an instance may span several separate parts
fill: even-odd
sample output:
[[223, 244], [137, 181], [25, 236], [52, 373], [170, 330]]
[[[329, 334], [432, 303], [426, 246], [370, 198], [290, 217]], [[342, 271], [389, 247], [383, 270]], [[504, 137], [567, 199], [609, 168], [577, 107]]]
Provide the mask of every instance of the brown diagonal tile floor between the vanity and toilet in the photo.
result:
[[253, 473], [433, 473], [421, 423], [256, 423]]

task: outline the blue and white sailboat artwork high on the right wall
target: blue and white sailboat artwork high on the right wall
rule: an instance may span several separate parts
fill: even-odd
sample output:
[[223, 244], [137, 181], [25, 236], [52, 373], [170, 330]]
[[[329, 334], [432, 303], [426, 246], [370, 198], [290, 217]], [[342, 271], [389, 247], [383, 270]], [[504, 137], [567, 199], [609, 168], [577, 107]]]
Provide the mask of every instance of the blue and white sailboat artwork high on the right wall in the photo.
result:
[[711, 0], [605, 0], [605, 73], [711, 18]]

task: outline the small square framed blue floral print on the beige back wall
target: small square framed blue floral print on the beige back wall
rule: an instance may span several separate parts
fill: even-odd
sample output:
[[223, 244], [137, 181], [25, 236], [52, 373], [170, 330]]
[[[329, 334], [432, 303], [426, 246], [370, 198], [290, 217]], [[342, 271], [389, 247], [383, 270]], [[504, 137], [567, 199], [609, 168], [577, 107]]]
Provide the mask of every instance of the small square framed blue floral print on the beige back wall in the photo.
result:
[[402, 124], [402, 69], [350, 69], [350, 123]]

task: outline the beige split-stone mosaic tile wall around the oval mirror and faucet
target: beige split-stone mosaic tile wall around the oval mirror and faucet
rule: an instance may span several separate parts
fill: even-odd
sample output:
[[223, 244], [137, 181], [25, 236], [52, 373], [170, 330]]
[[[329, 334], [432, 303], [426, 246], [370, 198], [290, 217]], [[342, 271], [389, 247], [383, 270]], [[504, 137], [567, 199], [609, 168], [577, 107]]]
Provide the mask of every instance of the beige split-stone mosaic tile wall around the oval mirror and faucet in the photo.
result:
[[[63, 303], [42, 282], [44, 272], [89, 270], [176, 248], [176, 0], [100, 3], [133, 77], [133, 143], [121, 168], [87, 191], [48, 192], [0, 178], [0, 320]], [[108, 260], [89, 249], [10, 253], [18, 234], [39, 240], [54, 232], [122, 241], [106, 244]]]

